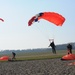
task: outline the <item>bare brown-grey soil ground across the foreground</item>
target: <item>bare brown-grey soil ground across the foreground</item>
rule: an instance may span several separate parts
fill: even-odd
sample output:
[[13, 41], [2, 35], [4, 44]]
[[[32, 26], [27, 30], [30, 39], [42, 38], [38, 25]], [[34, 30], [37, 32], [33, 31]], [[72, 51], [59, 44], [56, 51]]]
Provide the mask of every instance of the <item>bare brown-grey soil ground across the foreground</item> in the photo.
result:
[[61, 59], [0, 62], [0, 75], [75, 75], [75, 65]]

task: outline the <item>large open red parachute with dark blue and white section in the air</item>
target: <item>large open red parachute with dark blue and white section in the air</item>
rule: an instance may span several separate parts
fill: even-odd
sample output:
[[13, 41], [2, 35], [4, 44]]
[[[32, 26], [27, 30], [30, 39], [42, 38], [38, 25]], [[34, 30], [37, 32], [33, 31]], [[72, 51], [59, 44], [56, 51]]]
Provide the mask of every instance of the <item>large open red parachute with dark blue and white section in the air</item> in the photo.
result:
[[33, 22], [37, 22], [40, 19], [44, 19], [47, 20], [53, 24], [55, 24], [56, 26], [62, 26], [62, 24], [65, 22], [65, 18], [55, 12], [43, 12], [43, 13], [39, 13], [35, 16], [33, 16], [29, 22], [28, 22], [28, 26], [31, 26], [33, 24]]

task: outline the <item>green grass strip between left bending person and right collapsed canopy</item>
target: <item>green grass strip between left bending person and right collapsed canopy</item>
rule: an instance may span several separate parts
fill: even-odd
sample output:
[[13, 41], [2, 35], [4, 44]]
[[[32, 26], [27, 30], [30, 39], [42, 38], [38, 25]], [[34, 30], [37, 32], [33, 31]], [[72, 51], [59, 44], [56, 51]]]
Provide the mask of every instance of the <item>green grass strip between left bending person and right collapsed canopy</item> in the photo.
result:
[[[32, 53], [20, 53], [16, 55], [17, 60], [41, 60], [41, 59], [53, 59], [53, 58], [62, 58], [66, 55], [66, 50], [57, 50], [57, 54], [53, 54], [51, 51], [48, 52], [32, 52]], [[75, 50], [73, 50], [75, 54]]]

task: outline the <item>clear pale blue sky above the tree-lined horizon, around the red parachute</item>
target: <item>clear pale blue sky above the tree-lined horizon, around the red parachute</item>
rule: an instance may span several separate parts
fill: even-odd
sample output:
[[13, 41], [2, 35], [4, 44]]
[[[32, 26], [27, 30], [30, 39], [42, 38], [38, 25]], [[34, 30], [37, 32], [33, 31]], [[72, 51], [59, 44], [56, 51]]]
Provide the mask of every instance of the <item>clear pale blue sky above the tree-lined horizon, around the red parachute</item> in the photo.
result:
[[[40, 20], [28, 26], [28, 21], [40, 12], [57, 12], [65, 17], [56, 26]], [[75, 42], [75, 0], [0, 0], [0, 50], [48, 48], [55, 44]]]

